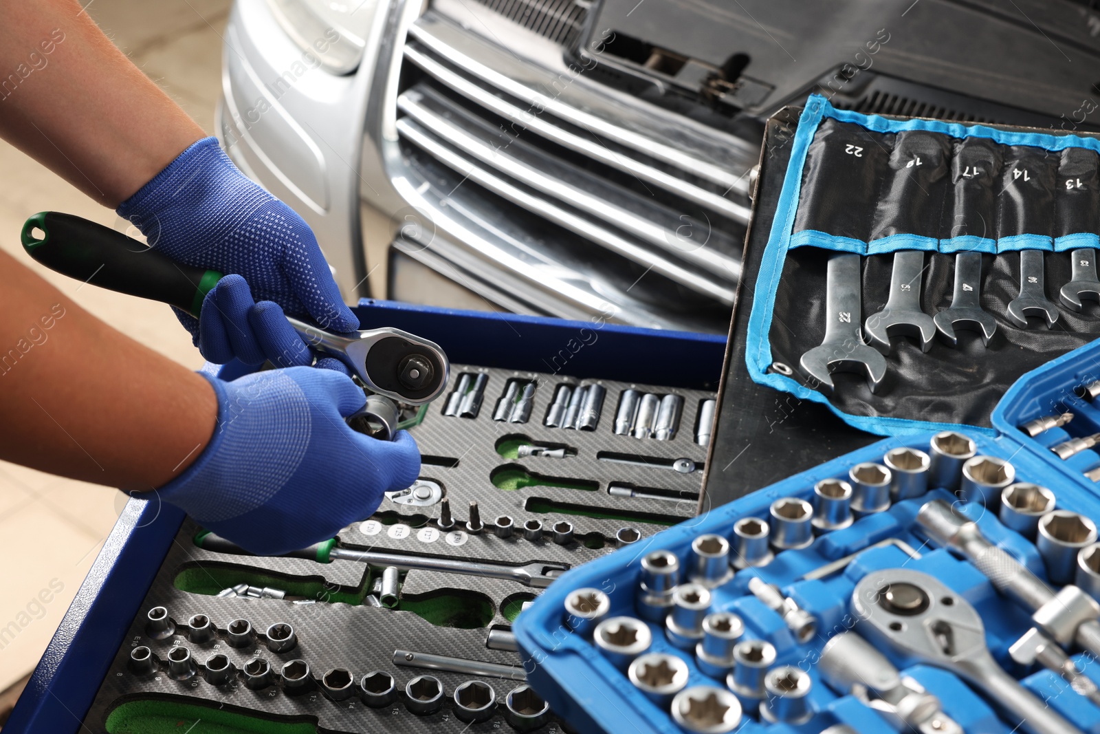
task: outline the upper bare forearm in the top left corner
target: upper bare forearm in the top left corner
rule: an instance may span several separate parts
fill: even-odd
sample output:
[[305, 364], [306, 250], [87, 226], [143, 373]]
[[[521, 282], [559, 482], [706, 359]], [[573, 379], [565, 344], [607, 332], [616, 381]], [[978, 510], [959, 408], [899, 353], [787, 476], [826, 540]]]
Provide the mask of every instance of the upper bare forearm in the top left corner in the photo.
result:
[[75, 0], [0, 3], [0, 136], [116, 208], [202, 129]]

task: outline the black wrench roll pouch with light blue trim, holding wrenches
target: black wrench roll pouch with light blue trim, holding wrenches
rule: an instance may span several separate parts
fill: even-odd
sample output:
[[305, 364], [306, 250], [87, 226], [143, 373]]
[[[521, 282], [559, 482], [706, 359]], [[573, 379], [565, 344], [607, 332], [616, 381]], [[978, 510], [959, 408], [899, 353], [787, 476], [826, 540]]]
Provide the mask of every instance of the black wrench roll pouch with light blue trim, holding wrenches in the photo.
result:
[[757, 382], [875, 434], [992, 432], [1018, 377], [1100, 336], [1100, 141], [813, 96], [791, 144], [749, 321]]

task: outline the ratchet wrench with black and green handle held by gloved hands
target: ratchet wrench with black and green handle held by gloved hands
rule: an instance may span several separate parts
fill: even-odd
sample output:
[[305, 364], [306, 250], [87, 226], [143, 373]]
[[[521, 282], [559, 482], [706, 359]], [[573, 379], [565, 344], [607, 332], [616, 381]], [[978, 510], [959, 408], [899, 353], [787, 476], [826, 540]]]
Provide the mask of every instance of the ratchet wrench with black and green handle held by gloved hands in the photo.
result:
[[[138, 240], [81, 217], [41, 211], [23, 224], [23, 248], [46, 267], [91, 285], [176, 306], [198, 317], [222, 274], [184, 265]], [[333, 333], [287, 317], [302, 340], [330, 354], [373, 392], [395, 401], [429, 403], [447, 385], [443, 350], [408, 331], [384, 327]]]

